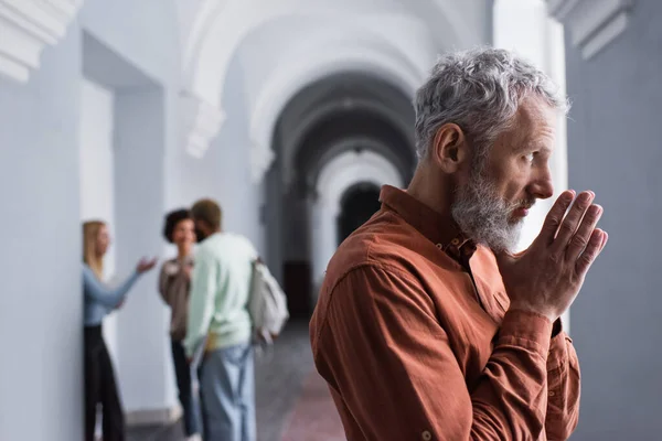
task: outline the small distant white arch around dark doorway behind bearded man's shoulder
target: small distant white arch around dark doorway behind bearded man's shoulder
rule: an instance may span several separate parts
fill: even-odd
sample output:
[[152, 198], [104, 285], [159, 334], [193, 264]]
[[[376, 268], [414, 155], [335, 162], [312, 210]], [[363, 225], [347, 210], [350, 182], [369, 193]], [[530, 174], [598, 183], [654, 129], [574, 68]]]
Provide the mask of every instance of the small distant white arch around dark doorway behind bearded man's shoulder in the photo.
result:
[[322, 169], [316, 189], [319, 197], [311, 213], [312, 277], [319, 283], [324, 277], [329, 260], [335, 252], [337, 217], [340, 201], [348, 189], [362, 182], [377, 186], [403, 186], [397, 168], [383, 155], [372, 151], [348, 151], [329, 161]]

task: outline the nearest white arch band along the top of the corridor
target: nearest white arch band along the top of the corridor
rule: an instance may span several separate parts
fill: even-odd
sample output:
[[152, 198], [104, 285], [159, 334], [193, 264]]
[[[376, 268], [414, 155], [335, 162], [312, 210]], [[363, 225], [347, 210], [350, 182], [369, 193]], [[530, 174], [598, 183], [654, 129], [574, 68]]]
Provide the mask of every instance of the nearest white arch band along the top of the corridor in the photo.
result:
[[[467, 26], [468, 17], [481, 15], [481, 8], [466, 6], [457, 8], [452, 0], [410, 0], [407, 4], [408, 17], [423, 21], [439, 44], [467, 46], [474, 44], [479, 30]], [[458, 9], [456, 11], [456, 9]], [[196, 13], [188, 19], [189, 32], [184, 49], [184, 74], [190, 84], [206, 83], [216, 78], [221, 85], [232, 55], [241, 42], [254, 29], [281, 17], [291, 14], [329, 17], [337, 22], [348, 22], [352, 15], [364, 17], [378, 13], [403, 18], [403, 11], [388, 2], [373, 0], [334, 0], [330, 2], [310, 2], [308, 0], [199, 0]], [[466, 15], [469, 14], [469, 15]], [[306, 18], [303, 18], [306, 19]], [[378, 19], [382, 20], [381, 18]], [[470, 20], [469, 20], [470, 22]], [[391, 28], [391, 26], [389, 26]], [[392, 30], [389, 29], [389, 33]], [[398, 39], [402, 40], [402, 39]], [[420, 43], [420, 42], [418, 42]], [[216, 68], [213, 68], [213, 67]], [[210, 72], [213, 71], [213, 72]], [[205, 76], [205, 73], [209, 73]], [[194, 87], [194, 93], [200, 90]], [[215, 103], [210, 101], [214, 105]]]

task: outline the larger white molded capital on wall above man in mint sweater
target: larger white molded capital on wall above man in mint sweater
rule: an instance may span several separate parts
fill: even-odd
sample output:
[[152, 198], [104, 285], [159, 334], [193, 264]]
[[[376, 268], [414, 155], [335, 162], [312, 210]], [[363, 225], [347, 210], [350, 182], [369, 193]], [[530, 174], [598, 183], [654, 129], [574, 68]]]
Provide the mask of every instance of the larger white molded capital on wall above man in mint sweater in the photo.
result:
[[186, 153], [202, 158], [221, 131], [225, 114], [186, 90], [180, 93], [180, 108], [182, 144]]

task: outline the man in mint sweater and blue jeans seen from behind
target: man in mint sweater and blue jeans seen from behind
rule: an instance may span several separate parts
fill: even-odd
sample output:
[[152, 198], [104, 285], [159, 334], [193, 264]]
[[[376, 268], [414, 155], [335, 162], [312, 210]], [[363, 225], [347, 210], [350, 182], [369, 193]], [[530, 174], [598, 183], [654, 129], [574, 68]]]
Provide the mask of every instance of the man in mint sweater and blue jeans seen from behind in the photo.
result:
[[191, 208], [201, 240], [191, 277], [189, 357], [204, 344], [200, 394], [204, 439], [255, 441], [252, 323], [246, 305], [257, 251], [245, 237], [221, 230], [222, 212], [211, 200]]

